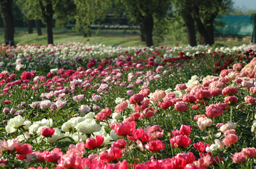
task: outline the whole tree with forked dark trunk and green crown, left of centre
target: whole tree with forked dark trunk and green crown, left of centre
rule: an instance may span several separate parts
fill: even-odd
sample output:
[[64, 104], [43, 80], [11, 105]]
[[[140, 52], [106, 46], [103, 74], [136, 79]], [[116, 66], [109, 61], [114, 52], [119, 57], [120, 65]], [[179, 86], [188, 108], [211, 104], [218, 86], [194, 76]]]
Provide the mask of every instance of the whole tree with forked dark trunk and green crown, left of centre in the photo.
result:
[[76, 6], [73, 0], [16, 0], [23, 7], [23, 14], [27, 18], [44, 18], [48, 44], [53, 44], [53, 17], [56, 26], [63, 26], [74, 15]]

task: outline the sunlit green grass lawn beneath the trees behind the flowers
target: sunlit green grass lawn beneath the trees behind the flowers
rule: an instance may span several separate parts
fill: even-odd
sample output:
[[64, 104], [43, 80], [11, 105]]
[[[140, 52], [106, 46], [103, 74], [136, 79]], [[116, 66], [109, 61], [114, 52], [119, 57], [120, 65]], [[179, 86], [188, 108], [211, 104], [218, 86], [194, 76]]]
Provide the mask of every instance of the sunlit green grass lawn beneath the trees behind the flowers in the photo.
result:
[[[47, 45], [47, 35], [46, 29], [42, 28], [42, 36], [37, 36], [36, 28], [33, 29], [33, 34], [28, 34], [27, 27], [15, 27], [14, 41], [15, 44], [32, 44], [36, 45]], [[140, 41], [139, 31], [138, 30], [92, 30], [91, 37], [84, 38], [82, 33], [75, 32], [66, 28], [54, 28], [53, 29], [53, 39], [54, 44], [62, 43], [67, 44], [68, 42], [80, 42], [87, 43], [88, 41], [92, 44], [94, 43], [103, 43], [105, 45], [122, 45], [127, 46], [146, 46], [145, 42]], [[4, 43], [4, 28], [0, 27], [0, 44]], [[168, 46], [174, 47], [176, 44], [187, 45], [180, 43], [179, 41], [163, 41], [157, 46]], [[218, 43], [218, 42], [217, 42]], [[234, 45], [240, 45], [245, 42], [220, 42], [220, 45], [227, 45], [229, 47]]]

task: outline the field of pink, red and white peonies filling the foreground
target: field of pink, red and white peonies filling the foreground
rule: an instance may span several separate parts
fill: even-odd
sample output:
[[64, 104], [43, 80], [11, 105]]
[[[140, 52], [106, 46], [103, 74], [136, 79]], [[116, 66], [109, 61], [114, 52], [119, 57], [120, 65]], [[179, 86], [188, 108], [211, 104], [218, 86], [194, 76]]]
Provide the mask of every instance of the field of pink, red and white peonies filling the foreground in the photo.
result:
[[255, 168], [256, 46], [0, 47], [0, 168]]

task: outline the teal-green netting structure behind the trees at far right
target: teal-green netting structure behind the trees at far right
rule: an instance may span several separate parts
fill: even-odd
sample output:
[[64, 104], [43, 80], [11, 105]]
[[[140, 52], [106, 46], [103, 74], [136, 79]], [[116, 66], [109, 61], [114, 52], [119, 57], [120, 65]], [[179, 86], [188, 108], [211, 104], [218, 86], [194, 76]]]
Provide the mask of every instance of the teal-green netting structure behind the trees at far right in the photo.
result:
[[218, 35], [251, 35], [251, 16], [222, 15], [217, 18], [224, 22], [223, 28], [215, 26], [215, 34]]

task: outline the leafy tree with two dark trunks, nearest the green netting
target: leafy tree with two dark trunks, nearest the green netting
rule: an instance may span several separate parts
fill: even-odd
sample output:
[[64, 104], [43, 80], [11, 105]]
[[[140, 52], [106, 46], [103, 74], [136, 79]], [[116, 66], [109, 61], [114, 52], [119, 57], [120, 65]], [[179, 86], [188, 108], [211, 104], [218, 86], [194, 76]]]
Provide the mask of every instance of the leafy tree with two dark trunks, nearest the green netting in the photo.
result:
[[231, 0], [174, 0], [173, 3], [185, 21], [191, 46], [196, 45], [195, 25], [204, 43], [215, 43], [215, 18], [219, 13], [227, 11], [232, 4]]

